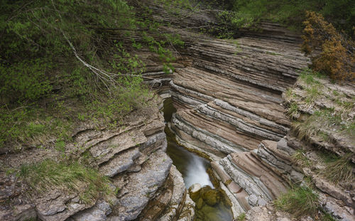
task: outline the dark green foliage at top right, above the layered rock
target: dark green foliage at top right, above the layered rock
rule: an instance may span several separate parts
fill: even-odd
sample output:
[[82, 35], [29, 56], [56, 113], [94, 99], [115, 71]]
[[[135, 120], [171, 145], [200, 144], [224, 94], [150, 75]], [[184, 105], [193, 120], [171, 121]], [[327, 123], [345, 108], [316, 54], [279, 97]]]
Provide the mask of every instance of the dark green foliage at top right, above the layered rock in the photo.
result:
[[229, 13], [230, 21], [237, 27], [251, 26], [261, 19], [285, 23], [290, 28], [301, 30], [305, 11], [317, 11], [339, 30], [352, 34], [355, 26], [355, 2], [351, 0], [231, 0], [234, 13]]

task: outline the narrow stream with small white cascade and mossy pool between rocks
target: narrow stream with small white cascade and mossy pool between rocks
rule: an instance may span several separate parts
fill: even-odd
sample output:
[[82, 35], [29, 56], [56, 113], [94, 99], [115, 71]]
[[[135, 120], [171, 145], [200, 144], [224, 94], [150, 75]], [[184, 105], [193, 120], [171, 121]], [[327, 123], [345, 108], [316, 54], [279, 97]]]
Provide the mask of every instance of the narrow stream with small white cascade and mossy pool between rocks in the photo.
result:
[[[170, 122], [173, 113], [176, 109], [173, 107], [171, 98], [164, 101], [164, 119], [165, 123]], [[175, 141], [175, 134], [170, 131], [168, 124], [165, 126], [165, 134], [168, 140], [167, 153], [173, 160], [173, 164], [178, 168], [182, 174], [185, 187], [188, 189], [195, 183], [200, 183], [203, 187], [200, 198], [192, 198], [195, 201], [195, 221], [231, 221], [233, 220], [231, 214], [231, 205], [226, 199], [224, 193], [219, 188], [215, 188], [207, 173], [207, 168], [211, 167], [209, 161], [196, 153], [187, 151]], [[217, 203], [210, 203], [210, 196], [217, 199]], [[214, 201], [212, 199], [212, 201]]]

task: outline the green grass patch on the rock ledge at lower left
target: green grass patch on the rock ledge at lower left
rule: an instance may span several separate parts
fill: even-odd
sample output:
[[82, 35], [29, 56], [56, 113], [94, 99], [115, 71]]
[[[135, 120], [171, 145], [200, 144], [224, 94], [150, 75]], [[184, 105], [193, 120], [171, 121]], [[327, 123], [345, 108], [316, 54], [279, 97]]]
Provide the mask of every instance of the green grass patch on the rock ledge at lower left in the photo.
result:
[[100, 195], [114, 194], [114, 191], [109, 188], [111, 183], [109, 178], [77, 162], [57, 163], [53, 160], [45, 160], [33, 165], [23, 165], [18, 172], [18, 177], [35, 193], [46, 193], [53, 188], [62, 188], [79, 194], [82, 203], [92, 203]]

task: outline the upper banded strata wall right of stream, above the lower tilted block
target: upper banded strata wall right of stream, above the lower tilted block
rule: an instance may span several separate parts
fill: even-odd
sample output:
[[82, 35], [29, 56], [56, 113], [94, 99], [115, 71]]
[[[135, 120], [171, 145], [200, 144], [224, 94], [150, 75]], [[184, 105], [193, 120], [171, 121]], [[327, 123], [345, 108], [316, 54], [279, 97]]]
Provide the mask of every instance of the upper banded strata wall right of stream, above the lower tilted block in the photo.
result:
[[172, 128], [182, 144], [217, 159], [287, 134], [280, 94], [308, 63], [296, 44], [255, 36], [185, 40], [190, 63], [170, 82], [178, 108]]

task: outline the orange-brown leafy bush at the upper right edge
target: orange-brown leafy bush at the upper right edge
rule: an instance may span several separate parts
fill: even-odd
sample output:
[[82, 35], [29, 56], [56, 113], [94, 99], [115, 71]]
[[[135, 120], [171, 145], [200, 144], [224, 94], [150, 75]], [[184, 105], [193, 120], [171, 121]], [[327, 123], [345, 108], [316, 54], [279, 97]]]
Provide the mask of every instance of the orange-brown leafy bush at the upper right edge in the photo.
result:
[[[354, 80], [355, 42], [337, 32], [321, 14], [307, 11], [306, 16], [302, 50], [311, 55], [313, 70], [334, 80]], [[317, 52], [319, 48], [321, 53]]]

